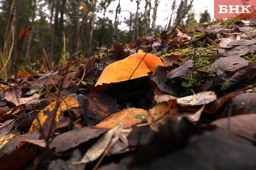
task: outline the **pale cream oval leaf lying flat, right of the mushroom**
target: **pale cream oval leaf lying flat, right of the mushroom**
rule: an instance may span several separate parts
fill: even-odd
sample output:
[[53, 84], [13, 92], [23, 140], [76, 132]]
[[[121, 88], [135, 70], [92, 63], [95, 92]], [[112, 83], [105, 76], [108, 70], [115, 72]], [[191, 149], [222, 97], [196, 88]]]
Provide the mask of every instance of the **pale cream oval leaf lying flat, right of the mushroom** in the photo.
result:
[[196, 106], [208, 104], [217, 99], [214, 91], [203, 91], [192, 96], [182, 97], [177, 99], [177, 103], [181, 106]]

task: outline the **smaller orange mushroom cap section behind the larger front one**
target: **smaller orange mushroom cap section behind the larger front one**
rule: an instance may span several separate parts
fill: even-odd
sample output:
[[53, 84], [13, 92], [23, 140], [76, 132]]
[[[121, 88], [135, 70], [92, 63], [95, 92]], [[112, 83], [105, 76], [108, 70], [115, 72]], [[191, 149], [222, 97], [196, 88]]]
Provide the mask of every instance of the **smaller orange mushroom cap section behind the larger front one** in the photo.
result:
[[[145, 54], [146, 53], [135, 53], [126, 58], [137, 58], [141, 60], [145, 56]], [[158, 66], [158, 65], [165, 66], [161, 58], [154, 56], [151, 53], [147, 53], [142, 61], [146, 64], [146, 66], [149, 68], [150, 71], [156, 71], [156, 69], [154, 69], [155, 66]]]

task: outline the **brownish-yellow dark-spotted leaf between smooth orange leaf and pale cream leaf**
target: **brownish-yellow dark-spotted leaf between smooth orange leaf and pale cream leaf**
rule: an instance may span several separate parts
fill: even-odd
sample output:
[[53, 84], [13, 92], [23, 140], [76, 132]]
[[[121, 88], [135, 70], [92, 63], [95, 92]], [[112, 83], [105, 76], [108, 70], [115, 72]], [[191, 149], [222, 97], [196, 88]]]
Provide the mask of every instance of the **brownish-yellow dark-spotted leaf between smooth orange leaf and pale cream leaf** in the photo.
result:
[[152, 130], [158, 132], [159, 127], [167, 122], [168, 119], [177, 119], [177, 101], [169, 100], [157, 104], [148, 111], [147, 122]]

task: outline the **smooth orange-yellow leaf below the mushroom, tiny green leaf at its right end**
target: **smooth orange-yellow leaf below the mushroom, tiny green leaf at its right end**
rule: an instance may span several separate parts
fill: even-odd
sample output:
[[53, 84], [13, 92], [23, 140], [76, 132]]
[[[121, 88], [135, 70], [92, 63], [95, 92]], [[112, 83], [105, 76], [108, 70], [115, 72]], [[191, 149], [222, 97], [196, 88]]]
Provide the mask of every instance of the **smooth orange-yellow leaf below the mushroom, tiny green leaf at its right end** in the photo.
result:
[[147, 116], [147, 111], [144, 109], [130, 108], [114, 114], [111, 114], [106, 119], [102, 120], [94, 128], [110, 129], [117, 126], [120, 122], [125, 122], [124, 129], [130, 128], [134, 124], [141, 123], [143, 119], [137, 119], [137, 114], [144, 114]]

